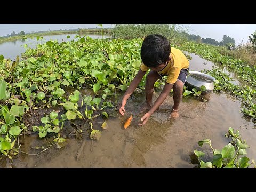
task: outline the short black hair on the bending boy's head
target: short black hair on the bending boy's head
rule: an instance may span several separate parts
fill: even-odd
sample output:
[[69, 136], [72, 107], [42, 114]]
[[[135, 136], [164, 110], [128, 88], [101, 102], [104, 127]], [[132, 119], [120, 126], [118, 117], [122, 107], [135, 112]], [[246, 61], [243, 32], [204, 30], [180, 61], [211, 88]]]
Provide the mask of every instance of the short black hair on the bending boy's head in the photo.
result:
[[171, 53], [168, 39], [159, 34], [148, 35], [142, 43], [140, 57], [147, 67], [158, 67], [166, 63]]

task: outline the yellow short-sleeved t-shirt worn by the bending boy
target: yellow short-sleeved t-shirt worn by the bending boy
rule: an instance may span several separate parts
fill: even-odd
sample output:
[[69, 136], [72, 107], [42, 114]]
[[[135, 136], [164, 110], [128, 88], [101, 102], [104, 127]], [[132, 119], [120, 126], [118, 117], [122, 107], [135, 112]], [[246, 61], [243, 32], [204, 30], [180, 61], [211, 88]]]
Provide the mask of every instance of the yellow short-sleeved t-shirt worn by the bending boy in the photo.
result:
[[[174, 84], [179, 77], [180, 70], [188, 68], [189, 61], [182, 51], [174, 47], [171, 47], [170, 55], [172, 59], [169, 61], [169, 63], [161, 71], [157, 72], [164, 76], [168, 75], [166, 83]], [[146, 72], [149, 68], [142, 63], [140, 69]]]

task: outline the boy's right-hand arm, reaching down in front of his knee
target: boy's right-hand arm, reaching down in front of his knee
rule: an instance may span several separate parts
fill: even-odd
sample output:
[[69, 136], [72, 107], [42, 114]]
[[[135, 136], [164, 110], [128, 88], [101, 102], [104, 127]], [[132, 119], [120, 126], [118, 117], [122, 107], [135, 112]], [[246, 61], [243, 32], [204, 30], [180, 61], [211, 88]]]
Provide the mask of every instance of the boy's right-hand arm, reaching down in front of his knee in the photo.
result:
[[142, 123], [140, 123], [139, 125], [144, 125], [148, 121], [149, 117], [155, 112], [155, 110], [159, 106], [161, 106], [161, 104], [164, 102], [166, 97], [169, 95], [173, 85], [174, 84], [165, 83], [161, 94], [158, 96], [158, 98], [156, 99], [154, 105], [150, 108], [150, 110], [141, 118]]

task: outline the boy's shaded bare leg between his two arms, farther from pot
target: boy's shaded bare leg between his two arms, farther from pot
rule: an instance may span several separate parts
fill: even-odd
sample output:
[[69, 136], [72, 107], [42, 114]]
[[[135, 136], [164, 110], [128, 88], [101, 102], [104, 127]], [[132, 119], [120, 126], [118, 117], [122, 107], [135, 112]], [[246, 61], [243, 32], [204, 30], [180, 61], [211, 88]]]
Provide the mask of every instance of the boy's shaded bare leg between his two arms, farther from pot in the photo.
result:
[[146, 104], [152, 106], [152, 97], [154, 92], [154, 83], [161, 78], [161, 76], [156, 71], [150, 71], [146, 77]]

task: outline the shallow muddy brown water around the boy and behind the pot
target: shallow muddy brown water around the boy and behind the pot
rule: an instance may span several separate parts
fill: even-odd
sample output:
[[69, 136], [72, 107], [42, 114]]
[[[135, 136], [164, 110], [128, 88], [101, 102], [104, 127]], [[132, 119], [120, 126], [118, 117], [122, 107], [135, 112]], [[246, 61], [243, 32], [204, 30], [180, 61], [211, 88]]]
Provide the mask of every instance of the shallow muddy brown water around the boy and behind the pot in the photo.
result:
[[[191, 55], [190, 70], [200, 71], [213, 66], [206, 60], [197, 60]], [[207, 65], [203, 65], [203, 63]], [[156, 100], [159, 91], [153, 95]], [[86, 94], [86, 93], [83, 93]], [[138, 126], [143, 113], [139, 113], [145, 102], [144, 92], [133, 94], [127, 101], [126, 111], [133, 114], [131, 125], [124, 129], [127, 117], [121, 117], [118, 111], [113, 110], [112, 116], [106, 121], [108, 129], [101, 129], [105, 119], [98, 118], [94, 122], [94, 129], [102, 131], [99, 141], [92, 140], [86, 134], [83, 138], [70, 134], [66, 145], [60, 149], [53, 145], [49, 149], [52, 137], [39, 139], [38, 134], [20, 137], [21, 150], [14, 159], [12, 167], [197, 167], [194, 160], [194, 149], [212, 155], [209, 145], [203, 147], [198, 141], [208, 138], [214, 149], [221, 150], [228, 144], [230, 138], [225, 137], [228, 127], [240, 130], [242, 139], [249, 145], [247, 157], [250, 162], [256, 157], [256, 129], [254, 123], [240, 112], [241, 102], [224, 93], [218, 95], [214, 92], [206, 94], [208, 102], [201, 102], [193, 97], [182, 98], [179, 118], [170, 119], [170, 109], [173, 105], [172, 93], [151, 116], [146, 125]], [[122, 99], [122, 94], [118, 97]], [[77, 126], [74, 126], [76, 124]], [[84, 121], [75, 121], [66, 124], [65, 129], [82, 130], [84, 133], [90, 128]], [[75, 131], [76, 132], [76, 131]], [[79, 159], [77, 151], [83, 140], [86, 140]], [[47, 144], [48, 143], [48, 144]], [[43, 149], [35, 149], [35, 147]], [[6, 163], [5, 167], [10, 166]]]

